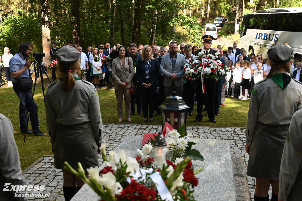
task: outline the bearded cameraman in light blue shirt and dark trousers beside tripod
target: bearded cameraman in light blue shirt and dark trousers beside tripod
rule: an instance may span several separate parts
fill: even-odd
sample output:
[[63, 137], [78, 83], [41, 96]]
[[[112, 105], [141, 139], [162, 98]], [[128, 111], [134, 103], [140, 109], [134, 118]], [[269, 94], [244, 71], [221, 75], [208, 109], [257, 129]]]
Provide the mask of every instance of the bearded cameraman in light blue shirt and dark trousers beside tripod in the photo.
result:
[[[18, 53], [15, 54], [9, 61], [9, 69], [11, 71], [11, 81], [13, 82], [13, 89], [20, 99], [19, 118], [21, 134], [34, 134], [35, 136], [45, 135], [39, 129], [38, 106], [36, 102], [31, 102], [31, 89], [24, 90], [20, 87], [20, 78], [31, 79], [31, 72], [29, 71], [30, 62], [26, 59], [31, 55], [33, 45], [28, 42], [23, 42], [19, 46]], [[32, 82], [32, 81], [31, 81]], [[31, 108], [31, 110], [30, 110]], [[28, 129], [27, 113], [30, 110], [31, 130]]]

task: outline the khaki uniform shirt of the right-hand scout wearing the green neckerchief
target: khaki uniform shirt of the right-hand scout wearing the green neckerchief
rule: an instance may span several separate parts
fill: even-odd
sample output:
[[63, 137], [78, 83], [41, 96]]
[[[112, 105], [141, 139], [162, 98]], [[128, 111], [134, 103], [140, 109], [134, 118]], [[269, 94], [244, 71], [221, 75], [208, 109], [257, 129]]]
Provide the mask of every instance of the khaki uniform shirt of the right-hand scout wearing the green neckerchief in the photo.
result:
[[[288, 72], [274, 72], [273, 75]], [[302, 108], [302, 83], [291, 79], [283, 90], [271, 78], [259, 81], [252, 89], [246, 124], [246, 144], [250, 145], [257, 122], [290, 124], [293, 114]]]

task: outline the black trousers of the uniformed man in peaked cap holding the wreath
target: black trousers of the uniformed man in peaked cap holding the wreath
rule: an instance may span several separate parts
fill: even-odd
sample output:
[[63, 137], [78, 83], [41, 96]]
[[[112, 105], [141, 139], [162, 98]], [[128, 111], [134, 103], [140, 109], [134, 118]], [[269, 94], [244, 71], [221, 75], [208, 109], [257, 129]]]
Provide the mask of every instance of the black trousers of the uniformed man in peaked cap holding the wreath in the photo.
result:
[[205, 85], [205, 93], [202, 93], [202, 85], [201, 85], [201, 78], [198, 77], [196, 80], [196, 92], [197, 92], [197, 115], [196, 119], [202, 119], [202, 107], [203, 107], [203, 100], [204, 96], [206, 96], [208, 102], [208, 117], [210, 120], [215, 118], [214, 115], [214, 107], [215, 107], [215, 91], [216, 91], [216, 79], [214, 78], [207, 78], [204, 79]]

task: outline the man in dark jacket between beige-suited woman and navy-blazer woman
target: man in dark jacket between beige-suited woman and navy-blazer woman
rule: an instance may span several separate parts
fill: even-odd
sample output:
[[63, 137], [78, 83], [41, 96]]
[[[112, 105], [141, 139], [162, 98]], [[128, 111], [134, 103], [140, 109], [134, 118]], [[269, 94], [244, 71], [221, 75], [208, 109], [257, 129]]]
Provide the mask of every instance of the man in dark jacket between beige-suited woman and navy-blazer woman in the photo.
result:
[[[129, 52], [128, 52], [128, 57], [132, 58], [133, 61], [133, 68], [135, 69], [136, 64], [139, 60], [141, 60], [141, 55], [139, 53], [137, 53], [137, 46], [135, 43], [131, 43], [129, 45]], [[136, 100], [136, 107], [137, 107], [137, 114], [138, 115], [142, 115], [142, 100], [140, 98], [140, 93], [139, 93], [139, 88], [137, 85], [137, 76], [136, 76], [136, 72], [134, 72], [133, 78], [132, 78], [132, 83], [136, 88], [136, 93], [131, 94], [131, 115], [134, 115], [135, 113], [135, 100]]]

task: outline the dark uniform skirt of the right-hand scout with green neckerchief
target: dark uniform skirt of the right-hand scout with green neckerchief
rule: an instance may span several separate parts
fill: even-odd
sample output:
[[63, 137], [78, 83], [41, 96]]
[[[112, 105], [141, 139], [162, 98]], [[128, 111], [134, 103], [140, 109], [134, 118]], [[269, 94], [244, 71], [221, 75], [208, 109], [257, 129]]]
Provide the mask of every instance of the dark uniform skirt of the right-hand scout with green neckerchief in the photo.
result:
[[280, 164], [288, 125], [255, 126], [246, 174], [256, 178], [279, 180]]

